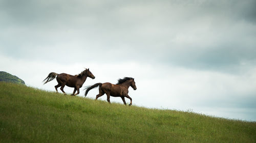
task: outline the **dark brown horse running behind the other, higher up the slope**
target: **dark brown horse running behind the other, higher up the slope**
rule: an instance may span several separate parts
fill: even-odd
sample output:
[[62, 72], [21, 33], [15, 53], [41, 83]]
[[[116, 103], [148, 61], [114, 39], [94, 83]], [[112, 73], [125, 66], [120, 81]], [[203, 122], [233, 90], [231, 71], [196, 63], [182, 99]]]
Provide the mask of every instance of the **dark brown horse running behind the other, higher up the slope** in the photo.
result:
[[[46, 82], [45, 83], [47, 83], [49, 81], [52, 81], [55, 77], [56, 77], [56, 80], [58, 82], [58, 84], [55, 85], [56, 92], [58, 93], [57, 88], [60, 87], [60, 90], [64, 94], [66, 94], [63, 91], [63, 88], [65, 87], [65, 85], [67, 85], [68, 87], [75, 88], [73, 94], [71, 94], [73, 96], [79, 94], [79, 89], [82, 87], [82, 84], [86, 81], [87, 77], [90, 77], [92, 79], [95, 78], [95, 76], [89, 71], [89, 69], [86, 69], [86, 70], [82, 71], [78, 75], [70, 75], [70, 74], [67, 74], [67, 73], [57, 74], [55, 72], [51, 72], [46, 77], [46, 79], [45, 79]], [[77, 91], [77, 93], [75, 94], [76, 91]]]

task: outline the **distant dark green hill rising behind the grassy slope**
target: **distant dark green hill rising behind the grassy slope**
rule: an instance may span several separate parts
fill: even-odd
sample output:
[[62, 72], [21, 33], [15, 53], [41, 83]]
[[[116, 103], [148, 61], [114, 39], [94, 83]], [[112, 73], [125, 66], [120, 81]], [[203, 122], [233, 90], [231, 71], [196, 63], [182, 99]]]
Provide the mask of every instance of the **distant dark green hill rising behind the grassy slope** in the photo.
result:
[[22, 79], [4, 71], [0, 71], [0, 81], [25, 84], [25, 82]]

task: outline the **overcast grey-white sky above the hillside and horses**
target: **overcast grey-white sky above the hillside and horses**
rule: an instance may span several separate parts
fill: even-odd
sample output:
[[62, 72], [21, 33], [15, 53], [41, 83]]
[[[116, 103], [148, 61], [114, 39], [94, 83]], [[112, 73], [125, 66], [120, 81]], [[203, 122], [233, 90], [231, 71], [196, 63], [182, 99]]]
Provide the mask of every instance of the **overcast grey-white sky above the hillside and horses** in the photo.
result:
[[255, 6], [253, 0], [0, 0], [0, 71], [55, 91], [56, 80], [41, 82], [50, 72], [90, 68], [96, 78], [84, 87], [135, 78], [129, 95], [138, 106], [256, 121]]

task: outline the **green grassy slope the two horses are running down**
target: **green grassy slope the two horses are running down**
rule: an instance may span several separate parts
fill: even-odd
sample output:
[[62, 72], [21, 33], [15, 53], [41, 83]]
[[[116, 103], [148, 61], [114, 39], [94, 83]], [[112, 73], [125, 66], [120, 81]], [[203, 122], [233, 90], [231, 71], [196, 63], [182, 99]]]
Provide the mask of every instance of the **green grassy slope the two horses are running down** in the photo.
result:
[[0, 142], [256, 142], [256, 122], [109, 104], [0, 82]]

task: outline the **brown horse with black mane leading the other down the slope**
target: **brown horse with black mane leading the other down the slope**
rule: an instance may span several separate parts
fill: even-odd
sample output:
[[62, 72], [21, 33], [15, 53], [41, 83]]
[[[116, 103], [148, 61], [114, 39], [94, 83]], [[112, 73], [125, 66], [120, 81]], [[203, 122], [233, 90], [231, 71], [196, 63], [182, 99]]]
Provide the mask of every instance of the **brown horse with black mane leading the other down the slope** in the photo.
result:
[[124, 97], [126, 97], [131, 100], [131, 103], [129, 105], [132, 105], [132, 98], [128, 95], [128, 88], [130, 86], [134, 90], [137, 89], [136, 85], [135, 85], [134, 78], [132, 78], [132, 77], [124, 77], [123, 79], [119, 78], [117, 84], [112, 84], [110, 82], [96, 83], [96, 84], [86, 88], [86, 93], [84, 94], [84, 96], [87, 96], [88, 92], [91, 89], [99, 87], [99, 94], [96, 96], [95, 100], [97, 100], [102, 95], [106, 94], [106, 97], [107, 97], [106, 100], [108, 100], [109, 103], [110, 103], [110, 96], [113, 96], [113, 97], [121, 97], [123, 100], [123, 103], [126, 105], [126, 102], [124, 99]]

